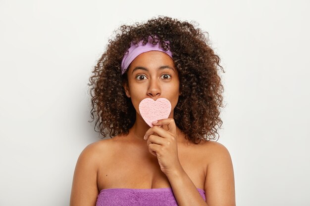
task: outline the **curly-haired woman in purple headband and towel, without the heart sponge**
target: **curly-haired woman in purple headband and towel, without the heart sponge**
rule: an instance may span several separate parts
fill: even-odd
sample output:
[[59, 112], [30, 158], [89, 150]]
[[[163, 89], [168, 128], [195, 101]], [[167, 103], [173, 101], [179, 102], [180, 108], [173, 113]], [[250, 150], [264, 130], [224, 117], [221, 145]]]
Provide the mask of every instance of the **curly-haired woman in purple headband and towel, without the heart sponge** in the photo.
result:
[[[121, 26], [89, 84], [92, 118], [111, 138], [79, 156], [70, 206], [235, 206], [229, 152], [209, 141], [222, 124], [219, 61], [188, 22]], [[147, 98], [168, 100], [168, 118], [147, 124]]]

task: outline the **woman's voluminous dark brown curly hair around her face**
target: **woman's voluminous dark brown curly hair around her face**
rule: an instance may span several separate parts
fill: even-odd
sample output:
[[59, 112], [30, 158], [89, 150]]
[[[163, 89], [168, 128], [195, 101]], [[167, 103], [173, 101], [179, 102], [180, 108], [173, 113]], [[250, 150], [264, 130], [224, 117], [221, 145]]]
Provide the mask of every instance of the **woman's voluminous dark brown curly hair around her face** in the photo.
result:
[[164, 40], [170, 41], [179, 74], [181, 95], [174, 109], [175, 124], [195, 144], [216, 139], [216, 126], [222, 125], [219, 109], [223, 107], [224, 90], [218, 69], [225, 71], [201, 29], [187, 21], [159, 16], [146, 23], [122, 25], [115, 34], [114, 39], [109, 39], [88, 83], [92, 96], [91, 122], [96, 119], [95, 131], [97, 126], [97, 132], [103, 137], [108, 132], [111, 138], [129, 133], [136, 121], [136, 111], [131, 99], [125, 95], [123, 83], [128, 80], [127, 73], [121, 75], [121, 61], [131, 41], [145, 44], [149, 36], [156, 36], [163, 48], [167, 49]]

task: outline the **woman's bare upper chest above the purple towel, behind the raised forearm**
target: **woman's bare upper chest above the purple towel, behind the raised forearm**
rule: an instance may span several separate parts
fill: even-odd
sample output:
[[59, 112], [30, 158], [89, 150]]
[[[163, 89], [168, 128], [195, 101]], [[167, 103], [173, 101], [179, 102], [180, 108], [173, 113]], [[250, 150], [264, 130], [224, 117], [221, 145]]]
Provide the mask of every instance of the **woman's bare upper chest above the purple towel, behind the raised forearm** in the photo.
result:
[[[178, 157], [184, 171], [197, 188], [204, 188], [207, 159], [199, 145], [179, 145]], [[115, 141], [104, 152], [98, 167], [99, 190], [106, 188], [166, 188], [171, 187], [161, 171], [158, 160], [147, 143], [129, 144]]]

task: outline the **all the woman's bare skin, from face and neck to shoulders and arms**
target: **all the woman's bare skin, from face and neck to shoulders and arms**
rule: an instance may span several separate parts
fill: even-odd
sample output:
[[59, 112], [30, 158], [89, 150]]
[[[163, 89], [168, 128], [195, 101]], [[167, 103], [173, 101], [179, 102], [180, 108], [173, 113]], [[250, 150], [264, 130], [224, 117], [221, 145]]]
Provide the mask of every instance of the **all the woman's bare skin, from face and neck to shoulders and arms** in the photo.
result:
[[[213, 141], [191, 143], [174, 122], [180, 82], [173, 60], [164, 52], [145, 52], [134, 59], [127, 73], [128, 84], [123, 86], [136, 109], [136, 122], [128, 135], [100, 140], [83, 150], [74, 172], [70, 206], [95, 206], [102, 189], [168, 187], [179, 206], [235, 206], [228, 150]], [[170, 101], [171, 113], [150, 127], [139, 113], [139, 103], [161, 97]], [[206, 192], [206, 201], [197, 188]]]

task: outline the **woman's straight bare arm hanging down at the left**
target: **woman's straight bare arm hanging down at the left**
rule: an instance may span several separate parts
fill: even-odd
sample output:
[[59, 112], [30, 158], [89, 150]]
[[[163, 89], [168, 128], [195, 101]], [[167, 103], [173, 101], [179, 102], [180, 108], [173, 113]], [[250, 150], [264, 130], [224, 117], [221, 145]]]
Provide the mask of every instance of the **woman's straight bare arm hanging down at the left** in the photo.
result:
[[98, 196], [96, 143], [80, 154], [73, 175], [70, 206], [95, 206]]

